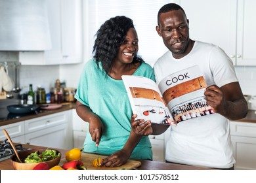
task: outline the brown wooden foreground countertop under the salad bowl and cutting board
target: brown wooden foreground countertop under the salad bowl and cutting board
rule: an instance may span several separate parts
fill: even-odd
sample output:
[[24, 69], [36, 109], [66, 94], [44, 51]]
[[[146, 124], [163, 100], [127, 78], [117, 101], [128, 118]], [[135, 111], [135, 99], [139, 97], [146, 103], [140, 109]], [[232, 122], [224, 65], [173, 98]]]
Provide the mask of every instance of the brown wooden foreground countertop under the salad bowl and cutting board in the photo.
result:
[[[24, 148], [45, 148], [41, 146], [32, 146], [28, 144], [22, 144]], [[65, 152], [68, 150], [57, 149], [61, 152], [62, 158], [65, 158]], [[137, 160], [138, 161], [138, 160]], [[160, 161], [149, 161], [149, 160], [139, 160], [141, 162], [139, 170], [211, 170], [202, 167], [194, 167], [188, 165], [179, 165], [175, 163], [163, 163]], [[1, 170], [13, 170], [11, 165], [11, 160], [6, 159], [5, 161], [0, 161], [0, 169]]]

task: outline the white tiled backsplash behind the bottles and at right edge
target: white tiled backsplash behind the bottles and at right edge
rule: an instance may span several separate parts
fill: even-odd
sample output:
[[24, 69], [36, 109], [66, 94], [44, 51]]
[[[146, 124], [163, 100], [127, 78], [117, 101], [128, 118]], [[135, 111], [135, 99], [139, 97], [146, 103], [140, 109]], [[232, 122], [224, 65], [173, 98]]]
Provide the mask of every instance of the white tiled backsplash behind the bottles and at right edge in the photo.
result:
[[[12, 52], [0, 52], [0, 61], [15, 61], [16, 59], [18, 57]], [[29, 84], [33, 84], [33, 90], [36, 90], [37, 85], [40, 84], [46, 92], [49, 92], [56, 79], [60, 78], [61, 82], [66, 82], [67, 87], [77, 88], [83, 65], [84, 63], [43, 66], [22, 65], [20, 67], [20, 87], [28, 90]], [[256, 67], [236, 66], [235, 70], [244, 95], [256, 95]]]

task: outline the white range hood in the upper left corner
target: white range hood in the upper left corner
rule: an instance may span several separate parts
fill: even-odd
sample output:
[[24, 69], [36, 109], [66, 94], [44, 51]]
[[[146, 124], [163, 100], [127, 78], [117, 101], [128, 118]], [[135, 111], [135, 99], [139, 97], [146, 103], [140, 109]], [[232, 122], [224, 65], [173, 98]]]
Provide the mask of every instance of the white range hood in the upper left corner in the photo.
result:
[[45, 0], [0, 0], [0, 51], [51, 49]]

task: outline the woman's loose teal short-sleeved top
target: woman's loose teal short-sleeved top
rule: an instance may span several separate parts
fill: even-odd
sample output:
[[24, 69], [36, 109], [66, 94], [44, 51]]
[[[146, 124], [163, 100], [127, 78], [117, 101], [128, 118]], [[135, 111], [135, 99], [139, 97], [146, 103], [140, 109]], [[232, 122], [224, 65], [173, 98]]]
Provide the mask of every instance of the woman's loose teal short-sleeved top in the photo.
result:
[[[154, 71], [147, 63], [142, 63], [133, 75], [154, 78]], [[129, 138], [131, 116], [133, 114], [123, 80], [115, 80], [90, 59], [81, 74], [75, 99], [87, 105], [100, 117], [104, 125], [98, 153], [110, 155], [121, 150]], [[88, 132], [84, 142], [84, 152], [96, 153], [95, 142]], [[140, 139], [130, 158], [152, 159], [152, 148], [147, 136]]]

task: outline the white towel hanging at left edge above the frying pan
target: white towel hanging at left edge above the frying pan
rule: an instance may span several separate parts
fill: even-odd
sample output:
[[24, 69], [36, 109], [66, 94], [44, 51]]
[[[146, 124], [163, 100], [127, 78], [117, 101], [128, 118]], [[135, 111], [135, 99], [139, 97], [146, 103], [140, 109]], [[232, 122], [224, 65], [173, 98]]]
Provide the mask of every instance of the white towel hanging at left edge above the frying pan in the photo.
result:
[[7, 73], [5, 73], [5, 68], [0, 67], [0, 92], [2, 92], [2, 90], [10, 92], [13, 88], [13, 80], [7, 75]]

